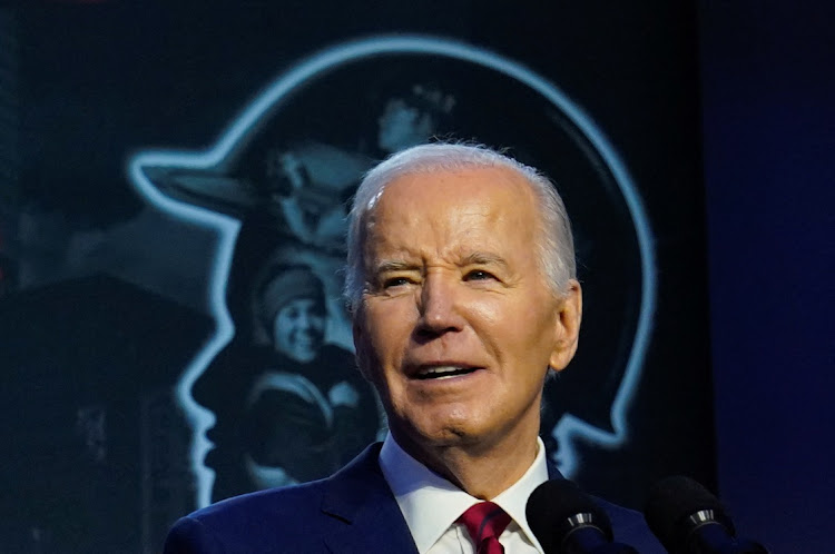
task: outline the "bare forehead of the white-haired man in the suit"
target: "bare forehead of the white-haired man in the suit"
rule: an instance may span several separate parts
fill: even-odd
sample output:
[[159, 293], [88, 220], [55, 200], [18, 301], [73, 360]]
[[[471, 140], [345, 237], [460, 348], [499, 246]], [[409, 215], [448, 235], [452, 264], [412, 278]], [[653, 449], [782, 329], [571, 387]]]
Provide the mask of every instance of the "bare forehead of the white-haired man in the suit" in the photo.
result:
[[530, 240], [538, 217], [530, 184], [511, 169], [411, 174], [383, 189], [366, 219], [365, 247]]

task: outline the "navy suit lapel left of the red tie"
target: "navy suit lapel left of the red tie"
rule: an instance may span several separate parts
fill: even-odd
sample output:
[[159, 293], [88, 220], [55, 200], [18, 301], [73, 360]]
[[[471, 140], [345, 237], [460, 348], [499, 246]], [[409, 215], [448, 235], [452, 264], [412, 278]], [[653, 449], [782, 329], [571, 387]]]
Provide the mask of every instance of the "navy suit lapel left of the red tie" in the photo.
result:
[[369, 446], [327, 479], [322, 512], [331, 520], [324, 538], [333, 553], [418, 554], [397, 501], [380, 469], [381, 446]]

